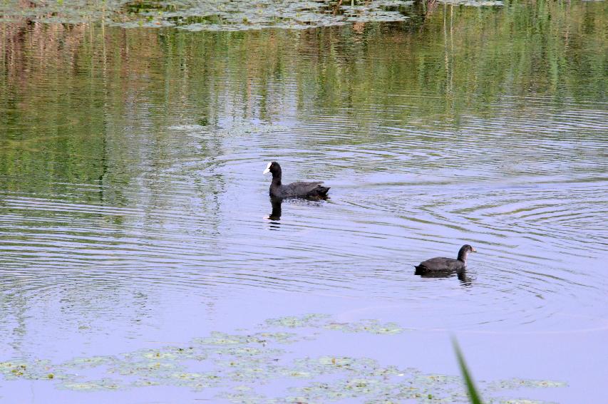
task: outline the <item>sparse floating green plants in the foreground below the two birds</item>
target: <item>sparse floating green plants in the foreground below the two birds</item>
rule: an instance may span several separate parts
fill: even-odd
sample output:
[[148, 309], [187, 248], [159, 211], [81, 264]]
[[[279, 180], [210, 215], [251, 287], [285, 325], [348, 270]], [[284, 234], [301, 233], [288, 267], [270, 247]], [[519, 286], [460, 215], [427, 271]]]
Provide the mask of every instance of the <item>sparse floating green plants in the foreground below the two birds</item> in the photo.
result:
[[[300, 328], [309, 333], [292, 333]], [[321, 332], [371, 333], [378, 336], [406, 332], [395, 323], [376, 320], [334, 321], [324, 314], [271, 318], [252, 331], [212, 332], [182, 346], [141, 349], [117, 356], [73, 358], [54, 364], [37, 358], [0, 363], [5, 380], [46, 380], [68, 390], [119, 390], [170, 385], [190, 390], [214, 388], [216, 397], [234, 403], [324, 403], [357, 398], [366, 403], [467, 402], [459, 376], [426, 374], [413, 368], [383, 366], [371, 358], [320, 355], [293, 358], [287, 348], [319, 337]], [[299, 380], [278, 397], [256, 390], [277, 380]], [[519, 398], [493, 398], [503, 390], [557, 388], [551, 380], [495, 380], [479, 382], [488, 403], [539, 403]], [[280, 393], [279, 393], [280, 394]]]

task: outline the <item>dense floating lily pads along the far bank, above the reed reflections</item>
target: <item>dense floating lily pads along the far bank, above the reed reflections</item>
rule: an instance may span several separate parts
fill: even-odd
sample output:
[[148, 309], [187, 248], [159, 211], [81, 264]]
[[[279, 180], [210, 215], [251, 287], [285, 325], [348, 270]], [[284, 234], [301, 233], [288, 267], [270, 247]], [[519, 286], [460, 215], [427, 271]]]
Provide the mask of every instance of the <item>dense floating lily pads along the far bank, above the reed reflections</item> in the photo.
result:
[[[500, 1], [445, 0], [468, 6]], [[352, 23], [405, 21], [411, 0], [370, 1], [31, 1], [0, 3], [0, 22], [29, 19], [47, 24], [103, 22], [123, 28], [175, 26], [187, 31], [248, 31], [264, 28], [309, 29]]]

